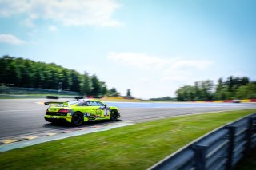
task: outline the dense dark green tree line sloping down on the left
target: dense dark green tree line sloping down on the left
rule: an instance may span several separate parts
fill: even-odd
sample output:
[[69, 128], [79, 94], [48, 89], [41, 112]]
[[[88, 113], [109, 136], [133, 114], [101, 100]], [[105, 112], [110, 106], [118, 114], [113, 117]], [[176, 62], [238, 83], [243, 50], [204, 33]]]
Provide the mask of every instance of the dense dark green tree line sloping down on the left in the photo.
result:
[[88, 96], [118, 96], [115, 88], [107, 89], [106, 83], [94, 74], [78, 73], [54, 63], [46, 64], [21, 57], [3, 56], [0, 58], [0, 85], [62, 89]]

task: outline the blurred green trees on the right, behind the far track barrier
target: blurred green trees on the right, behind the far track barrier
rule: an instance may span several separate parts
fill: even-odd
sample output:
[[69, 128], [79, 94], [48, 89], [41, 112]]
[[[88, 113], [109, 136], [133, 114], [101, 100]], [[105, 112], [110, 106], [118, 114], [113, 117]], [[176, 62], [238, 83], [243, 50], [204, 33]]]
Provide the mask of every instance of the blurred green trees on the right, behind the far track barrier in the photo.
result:
[[194, 85], [184, 85], [175, 92], [178, 101], [211, 101], [256, 98], [256, 81], [248, 77], [227, 77], [214, 81], [196, 81]]

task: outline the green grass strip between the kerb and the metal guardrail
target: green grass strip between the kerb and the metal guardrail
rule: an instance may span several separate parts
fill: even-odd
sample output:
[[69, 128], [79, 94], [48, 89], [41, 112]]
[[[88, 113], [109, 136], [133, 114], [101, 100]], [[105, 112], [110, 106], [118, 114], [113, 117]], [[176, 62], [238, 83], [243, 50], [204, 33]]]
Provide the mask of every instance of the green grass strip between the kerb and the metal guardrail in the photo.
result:
[[146, 169], [256, 109], [150, 121], [0, 153], [2, 169]]

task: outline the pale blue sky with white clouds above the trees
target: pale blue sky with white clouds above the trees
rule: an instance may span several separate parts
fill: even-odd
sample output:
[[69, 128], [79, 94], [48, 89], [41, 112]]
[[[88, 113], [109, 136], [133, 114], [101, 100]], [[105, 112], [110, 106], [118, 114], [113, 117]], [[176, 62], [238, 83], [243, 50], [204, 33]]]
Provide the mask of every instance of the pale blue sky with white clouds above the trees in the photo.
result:
[[122, 95], [256, 81], [254, 0], [0, 0], [0, 57], [96, 74]]

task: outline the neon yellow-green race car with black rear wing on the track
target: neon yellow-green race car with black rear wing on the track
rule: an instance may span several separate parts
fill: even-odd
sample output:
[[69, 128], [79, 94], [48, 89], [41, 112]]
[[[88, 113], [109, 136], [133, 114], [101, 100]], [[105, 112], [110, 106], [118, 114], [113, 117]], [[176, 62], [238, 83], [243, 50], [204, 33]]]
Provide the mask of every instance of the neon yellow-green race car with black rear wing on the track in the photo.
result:
[[120, 118], [119, 109], [107, 106], [95, 99], [75, 100], [66, 102], [45, 102], [49, 105], [45, 120], [49, 122], [66, 121], [74, 126], [80, 126], [85, 121], [110, 120]]

